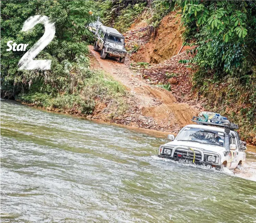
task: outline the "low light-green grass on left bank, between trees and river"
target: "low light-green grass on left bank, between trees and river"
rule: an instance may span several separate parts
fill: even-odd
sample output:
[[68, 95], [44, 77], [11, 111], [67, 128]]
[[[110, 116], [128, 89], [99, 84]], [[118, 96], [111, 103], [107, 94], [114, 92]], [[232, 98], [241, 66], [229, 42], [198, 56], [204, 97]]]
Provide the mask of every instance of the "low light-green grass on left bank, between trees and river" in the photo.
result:
[[103, 71], [93, 71], [76, 93], [29, 92], [20, 94], [18, 100], [36, 107], [81, 115], [92, 114], [99, 101], [108, 105], [109, 118], [116, 118], [128, 109], [125, 96], [127, 91], [121, 83]]

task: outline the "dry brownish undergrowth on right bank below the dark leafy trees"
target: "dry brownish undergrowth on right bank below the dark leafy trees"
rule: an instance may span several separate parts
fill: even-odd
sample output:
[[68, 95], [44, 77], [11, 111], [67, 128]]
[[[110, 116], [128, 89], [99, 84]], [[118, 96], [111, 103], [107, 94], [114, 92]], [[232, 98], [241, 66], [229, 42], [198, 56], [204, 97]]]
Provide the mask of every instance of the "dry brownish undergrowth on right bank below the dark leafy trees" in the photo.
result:
[[218, 112], [238, 124], [242, 140], [252, 141], [256, 135], [255, 85], [246, 88], [238, 78], [226, 77], [214, 83], [204, 80], [200, 89], [195, 82], [194, 88], [207, 99], [205, 109]]

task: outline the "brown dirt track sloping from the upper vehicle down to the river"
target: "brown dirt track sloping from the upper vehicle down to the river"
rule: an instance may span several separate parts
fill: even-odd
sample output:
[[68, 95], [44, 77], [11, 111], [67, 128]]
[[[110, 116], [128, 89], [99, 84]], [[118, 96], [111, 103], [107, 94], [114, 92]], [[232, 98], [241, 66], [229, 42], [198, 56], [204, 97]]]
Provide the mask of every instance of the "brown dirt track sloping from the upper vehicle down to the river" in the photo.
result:
[[134, 108], [124, 115], [124, 120], [115, 122], [177, 133], [184, 125], [191, 124], [192, 116], [200, 111], [187, 103], [179, 103], [171, 92], [149, 85], [141, 74], [129, 69], [129, 59], [125, 64], [112, 58], [103, 60], [93, 46], [89, 48], [96, 58], [94, 68], [104, 69], [131, 91]]

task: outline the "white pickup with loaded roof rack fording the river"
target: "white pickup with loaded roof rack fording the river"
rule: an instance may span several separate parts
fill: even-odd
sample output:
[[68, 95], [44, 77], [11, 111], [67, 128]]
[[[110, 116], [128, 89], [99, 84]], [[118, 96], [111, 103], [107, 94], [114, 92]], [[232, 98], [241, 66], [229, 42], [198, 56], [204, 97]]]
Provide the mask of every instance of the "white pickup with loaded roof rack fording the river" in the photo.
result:
[[235, 131], [238, 129], [236, 124], [229, 121], [216, 124], [195, 116], [191, 121], [199, 125], [186, 125], [176, 138], [168, 135], [172, 142], [160, 146], [159, 157], [216, 169], [235, 169], [244, 165], [246, 142], [240, 140]]

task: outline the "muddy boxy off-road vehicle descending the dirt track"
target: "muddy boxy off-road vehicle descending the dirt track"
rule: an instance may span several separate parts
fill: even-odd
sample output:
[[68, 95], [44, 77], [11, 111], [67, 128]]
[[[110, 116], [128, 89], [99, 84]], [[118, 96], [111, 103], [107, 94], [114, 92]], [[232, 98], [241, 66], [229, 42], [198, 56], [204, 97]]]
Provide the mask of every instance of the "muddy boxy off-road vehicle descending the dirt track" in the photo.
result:
[[126, 49], [125, 38], [116, 29], [100, 25], [95, 33], [96, 41], [93, 49], [101, 50], [100, 58], [107, 56], [119, 58], [120, 63], [125, 62]]

